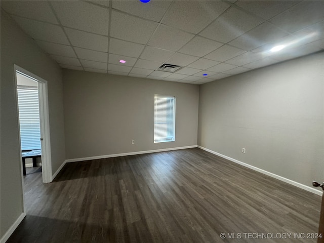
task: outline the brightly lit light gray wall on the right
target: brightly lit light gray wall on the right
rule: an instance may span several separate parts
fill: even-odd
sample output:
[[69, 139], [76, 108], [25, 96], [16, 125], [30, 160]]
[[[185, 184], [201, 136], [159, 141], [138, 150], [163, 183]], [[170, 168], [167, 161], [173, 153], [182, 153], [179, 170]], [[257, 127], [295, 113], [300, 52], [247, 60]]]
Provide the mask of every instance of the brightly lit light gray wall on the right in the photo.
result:
[[198, 145], [304, 185], [322, 181], [323, 84], [319, 53], [202, 85]]

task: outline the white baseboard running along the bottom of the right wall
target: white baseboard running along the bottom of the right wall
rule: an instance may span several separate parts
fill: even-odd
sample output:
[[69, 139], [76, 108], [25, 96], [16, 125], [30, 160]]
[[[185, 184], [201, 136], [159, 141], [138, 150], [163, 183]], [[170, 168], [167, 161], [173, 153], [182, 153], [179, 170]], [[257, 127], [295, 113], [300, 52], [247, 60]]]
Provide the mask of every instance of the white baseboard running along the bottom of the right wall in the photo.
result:
[[313, 188], [313, 187], [306, 186], [306, 185], [301, 184], [301, 183], [299, 183], [299, 182], [296, 182], [296, 181], [290, 180], [290, 179], [288, 179], [288, 178], [285, 178], [285, 177], [282, 177], [282, 176], [278, 176], [278, 175], [273, 174], [273, 173], [271, 173], [271, 172], [268, 172], [268, 171], [262, 170], [262, 169], [260, 169], [260, 168], [258, 168], [258, 167], [251, 166], [251, 165], [249, 165], [249, 164], [243, 163], [243, 162], [241, 162], [241, 161], [239, 161], [239, 160], [237, 160], [237, 159], [234, 159], [234, 158], [228, 157], [228, 156], [226, 156], [226, 155], [223, 155], [223, 154], [221, 154], [221, 153], [215, 152], [215, 151], [210, 150], [210, 149], [208, 149], [208, 148], [204, 148], [204, 147], [201, 147], [201, 146], [197, 146], [197, 147], [200, 148], [200, 149], [203, 149], [203, 150], [205, 150], [205, 151], [207, 151], [207, 152], [210, 152], [210, 153], [213, 153], [213, 154], [215, 154], [215, 155], [218, 155], [218, 156], [220, 156], [220, 157], [222, 157], [222, 158], [226, 158], [226, 159], [228, 159], [228, 160], [230, 160], [230, 161], [232, 161], [232, 162], [234, 162], [234, 163], [236, 163], [236, 164], [239, 164], [239, 165], [241, 165], [241, 166], [244, 166], [244, 167], [250, 168], [250, 169], [252, 169], [252, 170], [254, 170], [254, 171], [260, 172], [260, 173], [265, 174], [265, 175], [267, 175], [267, 176], [271, 176], [271, 177], [273, 177], [273, 178], [275, 178], [275, 179], [278, 179], [278, 180], [280, 180], [280, 181], [284, 181], [284, 182], [286, 182], [286, 183], [288, 183], [288, 184], [291, 184], [291, 185], [293, 185], [293, 186], [297, 186], [297, 187], [299, 187], [299, 188], [301, 188], [301, 189], [304, 189], [304, 190], [306, 190], [306, 191], [312, 192], [312, 193], [317, 194], [317, 195], [320, 195], [320, 196], [322, 195], [322, 192], [321, 192], [320, 190], [317, 190], [317, 189], [315, 189], [315, 188]]

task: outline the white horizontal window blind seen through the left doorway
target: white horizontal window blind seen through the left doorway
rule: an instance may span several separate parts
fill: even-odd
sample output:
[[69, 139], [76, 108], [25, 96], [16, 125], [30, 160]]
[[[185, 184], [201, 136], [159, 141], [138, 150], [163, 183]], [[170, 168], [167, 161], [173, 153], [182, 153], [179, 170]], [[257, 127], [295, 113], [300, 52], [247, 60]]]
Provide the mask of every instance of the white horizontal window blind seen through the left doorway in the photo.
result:
[[22, 150], [41, 149], [37, 87], [17, 87]]

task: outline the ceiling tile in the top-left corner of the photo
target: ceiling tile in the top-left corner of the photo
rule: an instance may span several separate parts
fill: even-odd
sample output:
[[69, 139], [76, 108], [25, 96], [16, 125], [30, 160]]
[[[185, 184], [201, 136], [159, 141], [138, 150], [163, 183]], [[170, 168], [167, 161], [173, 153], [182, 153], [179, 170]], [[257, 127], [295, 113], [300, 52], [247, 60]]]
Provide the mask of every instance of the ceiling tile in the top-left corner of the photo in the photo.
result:
[[1, 8], [9, 14], [58, 24], [47, 1], [1, 1]]

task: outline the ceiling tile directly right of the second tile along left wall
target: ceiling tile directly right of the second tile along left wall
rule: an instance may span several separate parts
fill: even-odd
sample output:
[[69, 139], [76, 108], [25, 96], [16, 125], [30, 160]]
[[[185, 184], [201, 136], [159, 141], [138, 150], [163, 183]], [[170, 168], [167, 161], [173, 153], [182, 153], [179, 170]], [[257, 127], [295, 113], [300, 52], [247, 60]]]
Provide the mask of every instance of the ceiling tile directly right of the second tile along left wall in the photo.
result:
[[95, 51], [107, 52], [108, 51], [108, 37], [88, 33], [80, 30], [64, 28], [71, 43], [75, 47], [82, 47]]

